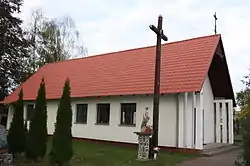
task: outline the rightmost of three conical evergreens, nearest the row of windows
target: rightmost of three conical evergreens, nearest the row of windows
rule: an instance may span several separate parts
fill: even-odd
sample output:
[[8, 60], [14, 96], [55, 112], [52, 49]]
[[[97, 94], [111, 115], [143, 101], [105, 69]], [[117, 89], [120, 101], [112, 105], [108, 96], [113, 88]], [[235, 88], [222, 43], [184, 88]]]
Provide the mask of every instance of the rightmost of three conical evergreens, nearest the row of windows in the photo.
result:
[[57, 110], [55, 132], [50, 152], [50, 161], [52, 163], [63, 165], [70, 161], [73, 155], [71, 126], [72, 109], [70, 83], [67, 79], [64, 84], [63, 94]]

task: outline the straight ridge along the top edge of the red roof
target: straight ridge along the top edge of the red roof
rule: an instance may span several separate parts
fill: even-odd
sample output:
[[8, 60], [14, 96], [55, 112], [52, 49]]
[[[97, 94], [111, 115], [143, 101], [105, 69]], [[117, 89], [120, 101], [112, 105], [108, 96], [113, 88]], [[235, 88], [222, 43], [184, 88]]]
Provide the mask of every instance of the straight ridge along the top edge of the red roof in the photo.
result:
[[[194, 37], [194, 38], [187, 38], [187, 39], [184, 39], [184, 40], [178, 40], [178, 41], [173, 41], [173, 42], [169, 42], [169, 43], [164, 43], [164, 44], [162, 44], [162, 46], [163, 45], [171, 45], [171, 44], [176, 44], [176, 43], [187, 42], [187, 41], [190, 41], [190, 40], [198, 40], [198, 39], [202, 39], [202, 38], [214, 37], [214, 36], [221, 36], [221, 34], [199, 36], [199, 37]], [[126, 50], [119, 50], [119, 51], [101, 53], [101, 54], [90, 55], [90, 56], [81, 57], [81, 58], [68, 59], [68, 60], [63, 60], [63, 61], [48, 63], [47, 65], [53, 65], [53, 64], [58, 64], [58, 63], [66, 63], [66, 62], [70, 62], [70, 61], [77, 61], [77, 60], [89, 59], [89, 58], [96, 58], [96, 57], [99, 57], [99, 56], [113, 55], [113, 54], [117, 54], [117, 53], [128, 52], [128, 51], [135, 51], [135, 50], [142, 50], [142, 49], [147, 49], [147, 48], [151, 48], [151, 47], [156, 47], [156, 45], [136, 47], [136, 48], [132, 48], [132, 49], [126, 49]]]

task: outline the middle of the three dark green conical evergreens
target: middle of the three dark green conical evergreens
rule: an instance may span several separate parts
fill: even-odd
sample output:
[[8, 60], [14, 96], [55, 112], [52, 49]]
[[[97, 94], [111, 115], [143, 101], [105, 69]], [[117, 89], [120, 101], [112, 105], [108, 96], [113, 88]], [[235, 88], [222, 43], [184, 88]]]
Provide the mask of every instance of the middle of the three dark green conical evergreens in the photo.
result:
[[31, 159], [43, 158], [47, 147], [47, 110], [45, 82], [42, 79], [33, 117], [28, 132], [26, 156]]

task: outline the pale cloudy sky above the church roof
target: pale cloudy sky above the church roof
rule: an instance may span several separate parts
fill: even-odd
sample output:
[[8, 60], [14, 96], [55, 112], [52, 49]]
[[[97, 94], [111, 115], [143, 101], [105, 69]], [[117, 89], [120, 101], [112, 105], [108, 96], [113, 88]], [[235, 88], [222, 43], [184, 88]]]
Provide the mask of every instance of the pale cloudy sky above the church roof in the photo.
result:
[[216, 12], [234, 92], [250, 72], [248, 0], [24, 0], [24, 24], [37, 8], [51, 18], [71, 16], [89, 56], [155, 45], [149, 25], [156, 26], [160, 14], [167, 42], [212, 35]]

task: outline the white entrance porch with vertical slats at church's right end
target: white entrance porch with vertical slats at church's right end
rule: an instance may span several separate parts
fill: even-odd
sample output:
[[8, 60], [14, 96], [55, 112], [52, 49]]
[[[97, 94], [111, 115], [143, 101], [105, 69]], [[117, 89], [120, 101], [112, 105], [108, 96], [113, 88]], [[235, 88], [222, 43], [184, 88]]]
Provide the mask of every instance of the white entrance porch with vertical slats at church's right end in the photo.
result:
[[212, 144], [234, 143], [233, 100], [207, 100], [200, 93], [183, 93], [177, 103], [176, 147], [204, 150]]

